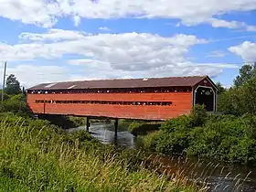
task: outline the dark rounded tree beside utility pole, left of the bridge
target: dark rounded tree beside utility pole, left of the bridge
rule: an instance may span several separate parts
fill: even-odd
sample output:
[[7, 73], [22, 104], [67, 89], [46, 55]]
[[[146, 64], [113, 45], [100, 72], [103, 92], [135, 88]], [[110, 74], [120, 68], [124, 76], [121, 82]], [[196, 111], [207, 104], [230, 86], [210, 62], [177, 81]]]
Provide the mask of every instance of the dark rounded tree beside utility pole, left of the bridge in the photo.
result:
[[19, 81], [16, 80], [14, 74], [9, 75], [6, 80], [5, 93], [8, 95], [16, 95], [21, 93]]

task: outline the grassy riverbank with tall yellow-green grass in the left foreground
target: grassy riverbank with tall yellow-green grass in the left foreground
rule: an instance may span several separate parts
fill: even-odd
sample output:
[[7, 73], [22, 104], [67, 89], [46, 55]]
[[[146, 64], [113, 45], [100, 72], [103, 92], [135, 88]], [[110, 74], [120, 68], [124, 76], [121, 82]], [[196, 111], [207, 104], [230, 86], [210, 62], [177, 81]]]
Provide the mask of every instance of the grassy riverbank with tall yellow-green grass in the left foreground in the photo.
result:
[[198, 191], [159, 176], [130, 150], [11, 113], [0, 114], [0, 149], [3, 191]]

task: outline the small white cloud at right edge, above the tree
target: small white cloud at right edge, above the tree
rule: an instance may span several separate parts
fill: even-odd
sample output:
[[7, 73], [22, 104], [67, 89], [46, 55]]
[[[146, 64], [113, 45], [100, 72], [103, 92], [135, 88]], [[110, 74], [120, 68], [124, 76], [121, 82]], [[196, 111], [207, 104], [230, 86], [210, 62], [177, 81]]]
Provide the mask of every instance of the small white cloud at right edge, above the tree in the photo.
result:
[[242, 44], [230, 47], [229, 51], [240, 56], [246, 62], [256, 61], [256, 43], [244, 41]]

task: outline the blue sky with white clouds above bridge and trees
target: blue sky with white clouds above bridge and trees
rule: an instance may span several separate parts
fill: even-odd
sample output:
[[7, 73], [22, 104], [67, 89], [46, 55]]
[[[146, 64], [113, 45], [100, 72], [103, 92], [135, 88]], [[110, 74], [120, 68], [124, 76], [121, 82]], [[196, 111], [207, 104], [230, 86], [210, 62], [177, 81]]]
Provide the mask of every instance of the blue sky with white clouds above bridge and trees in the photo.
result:
[[256, 0], [0, 0], [0, 77], [5, 61], [25, 87], [194, 75], [230, 87], [256, 61]]

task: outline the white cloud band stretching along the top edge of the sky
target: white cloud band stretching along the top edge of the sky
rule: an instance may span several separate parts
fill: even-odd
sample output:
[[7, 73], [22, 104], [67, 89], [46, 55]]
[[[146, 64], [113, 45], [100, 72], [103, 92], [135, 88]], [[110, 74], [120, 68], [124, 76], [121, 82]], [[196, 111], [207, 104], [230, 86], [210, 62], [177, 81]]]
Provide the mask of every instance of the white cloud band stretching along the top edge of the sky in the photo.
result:
[[[4, 1], [4, 2], [3, 2]], [[0, 16], [42, 27], [54, 26], [60, 17], [80, 18], [164, 17], [180, 19], [185, 25], [210, 23], [213, 27], [236, 28], [236, 21], [214, 18], [230, 12], [256, 9], [255, 0], [2, 0]], [[251, 27], [249, 27], [250, 29]]]

